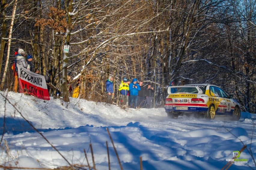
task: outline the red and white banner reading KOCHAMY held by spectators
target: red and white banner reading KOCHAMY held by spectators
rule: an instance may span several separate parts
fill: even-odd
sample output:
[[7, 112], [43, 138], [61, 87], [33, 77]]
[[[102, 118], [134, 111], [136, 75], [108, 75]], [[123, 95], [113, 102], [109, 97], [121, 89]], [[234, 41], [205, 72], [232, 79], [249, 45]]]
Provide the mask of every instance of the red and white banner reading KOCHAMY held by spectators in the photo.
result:
[[44, 76], [31, 72], [19, 64], [17, 67], [20, 93], [26, 91], [37, 98], [50, 100]]

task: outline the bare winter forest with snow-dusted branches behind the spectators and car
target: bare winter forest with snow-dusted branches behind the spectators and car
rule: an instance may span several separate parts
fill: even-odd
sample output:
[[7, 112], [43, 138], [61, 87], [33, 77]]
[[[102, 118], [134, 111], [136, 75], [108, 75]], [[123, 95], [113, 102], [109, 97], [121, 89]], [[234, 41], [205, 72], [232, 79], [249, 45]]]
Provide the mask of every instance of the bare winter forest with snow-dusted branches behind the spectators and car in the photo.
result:
[[67, 75], [92, 101], [106, 101], [113, 76], [115, 103], [124, 77], [150, 82], [154, 107], [170, 81], [184, 79], [218, 85], [256, 113], [255, 8], [254, 0], [2, 0], [0, 88], [12, 90], [22, 48], [65, 102]]

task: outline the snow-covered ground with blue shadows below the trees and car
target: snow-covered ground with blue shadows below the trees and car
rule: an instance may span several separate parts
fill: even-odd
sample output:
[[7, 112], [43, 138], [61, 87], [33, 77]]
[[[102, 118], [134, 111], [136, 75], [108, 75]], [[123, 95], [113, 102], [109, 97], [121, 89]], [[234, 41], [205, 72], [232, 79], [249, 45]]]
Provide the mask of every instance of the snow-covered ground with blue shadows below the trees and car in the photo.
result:
[[239, 151], [243, 145], [247, 148], [239, 159], [248, 160], [236, 162], [229, 169], [255, 169], [249, 152], [256, 158], [254, 114], [243, 112], [238, 122], [186, 116], [169, 119], [163, 108], [123, 110], [76, 98], [62, 105], [59, 99], [44, 101], [14, 92], [0, 92], [0, 103], [1, 135], [5, 126], [0, 151], [2, 166], [57, 168], [76, 164], [86, 168], [86, 151], [92, 168], [91, 144], [96, 169], [108, 169], [108, 150], [111, 169], [121, 169], [108, 128], [125, 170], [140, 169], [140, 156], [143, 169], [148, 170], [221, 169], [227, 159], [233, 158], [233, 151]]

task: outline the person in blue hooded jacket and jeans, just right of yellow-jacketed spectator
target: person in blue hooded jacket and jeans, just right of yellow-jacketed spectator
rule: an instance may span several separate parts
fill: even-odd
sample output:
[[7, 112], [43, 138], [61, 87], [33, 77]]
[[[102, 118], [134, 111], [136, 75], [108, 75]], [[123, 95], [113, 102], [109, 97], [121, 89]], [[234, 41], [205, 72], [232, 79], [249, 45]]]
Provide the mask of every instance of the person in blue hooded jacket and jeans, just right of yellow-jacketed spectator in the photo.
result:
[[129, 90], [130, 90], [130, 104], [129, 106], [134, 109], [137, 107], [137, 101], [138, 101], [138, 91], [140, 91], [140, 86], [137, 83], [138, 80], [136, 78], [133, 79], [132, 83], [129, 84]]

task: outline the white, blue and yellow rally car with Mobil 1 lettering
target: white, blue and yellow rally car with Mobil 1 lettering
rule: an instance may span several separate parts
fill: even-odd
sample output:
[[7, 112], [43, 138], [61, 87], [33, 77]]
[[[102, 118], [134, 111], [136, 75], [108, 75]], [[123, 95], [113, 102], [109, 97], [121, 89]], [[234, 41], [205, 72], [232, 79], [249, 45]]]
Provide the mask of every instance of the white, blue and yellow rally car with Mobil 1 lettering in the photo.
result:
[[[175, 93], [171, 93], [172, 88]], [[207, 119], [214, 119], [215, 116], [231, 116], [235, 121], [240, 119], [239, 102], [218, 86], [211, 84], [169, 86], [167, 92], [164, 108], [168, 117], [177, 118], [179, 115], [195, 113]]]

